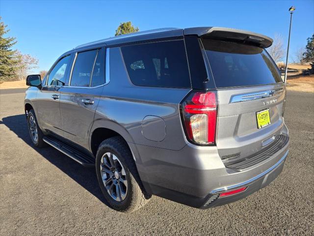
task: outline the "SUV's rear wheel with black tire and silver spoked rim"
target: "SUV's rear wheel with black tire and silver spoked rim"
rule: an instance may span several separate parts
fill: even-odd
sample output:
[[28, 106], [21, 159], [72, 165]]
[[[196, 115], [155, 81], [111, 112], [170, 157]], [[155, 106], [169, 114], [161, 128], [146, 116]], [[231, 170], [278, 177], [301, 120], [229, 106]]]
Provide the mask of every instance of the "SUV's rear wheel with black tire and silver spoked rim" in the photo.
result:
[[96, 155], [96, 173], [105, 200], [114, 210], [125, 213], [135, 211], [151, 197], [144, 191], [131, 150], [122, 137], [112, 137], [100, 144]]

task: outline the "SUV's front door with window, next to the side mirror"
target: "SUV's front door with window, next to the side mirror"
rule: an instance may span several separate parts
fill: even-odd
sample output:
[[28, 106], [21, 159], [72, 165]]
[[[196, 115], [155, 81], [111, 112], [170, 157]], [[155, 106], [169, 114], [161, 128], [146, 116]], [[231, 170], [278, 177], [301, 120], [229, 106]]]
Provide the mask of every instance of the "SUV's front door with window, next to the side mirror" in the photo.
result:
[[65, 84], [71, 56], [55, 63], [47, 75], [46, 84], [37, 93], [38, 122], [42, 129], [63, 136], [60, 115], [60, 88]]

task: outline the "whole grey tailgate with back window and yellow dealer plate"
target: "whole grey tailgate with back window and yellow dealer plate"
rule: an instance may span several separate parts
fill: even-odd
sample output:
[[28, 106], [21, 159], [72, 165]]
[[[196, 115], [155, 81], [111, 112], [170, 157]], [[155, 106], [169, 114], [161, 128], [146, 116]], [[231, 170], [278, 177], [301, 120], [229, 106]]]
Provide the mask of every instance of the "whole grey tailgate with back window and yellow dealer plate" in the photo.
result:
[[219, 100], [216, 145], [222, 159], [249, 156], [278, 139], [285, 85], [264, 49], [202, 39]]

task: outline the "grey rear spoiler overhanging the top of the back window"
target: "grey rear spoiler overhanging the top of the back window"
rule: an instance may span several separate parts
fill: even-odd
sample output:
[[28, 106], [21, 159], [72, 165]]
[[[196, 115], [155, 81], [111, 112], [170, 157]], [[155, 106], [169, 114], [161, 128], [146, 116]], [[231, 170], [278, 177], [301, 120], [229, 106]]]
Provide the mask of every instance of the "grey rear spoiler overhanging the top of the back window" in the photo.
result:
[[244, 31], [240, 29], [222, 28], [222, 27], [195, 27], [183, 29], [184, 35], [196, 34], [201, 38], [210, 38], [226, 41], [235, 41], [244, 44], [252, 44], [260, 48], [268, 48], [273, 43], [270, 37]]

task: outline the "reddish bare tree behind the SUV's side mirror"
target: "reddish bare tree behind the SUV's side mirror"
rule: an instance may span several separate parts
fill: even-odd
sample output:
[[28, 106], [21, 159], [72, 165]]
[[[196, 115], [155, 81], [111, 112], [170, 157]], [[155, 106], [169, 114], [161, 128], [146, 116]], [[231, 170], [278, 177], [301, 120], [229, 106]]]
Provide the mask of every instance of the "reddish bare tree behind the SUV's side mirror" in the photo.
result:
[[19, 80], [26, 79], [27, 73], [37, 67], [38, 59], [33, 58], [29, 54], [22, 54], [17, 52], [19, 63], [15, 68], [15, 74]]

